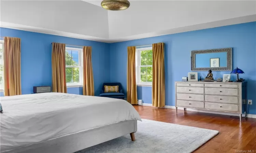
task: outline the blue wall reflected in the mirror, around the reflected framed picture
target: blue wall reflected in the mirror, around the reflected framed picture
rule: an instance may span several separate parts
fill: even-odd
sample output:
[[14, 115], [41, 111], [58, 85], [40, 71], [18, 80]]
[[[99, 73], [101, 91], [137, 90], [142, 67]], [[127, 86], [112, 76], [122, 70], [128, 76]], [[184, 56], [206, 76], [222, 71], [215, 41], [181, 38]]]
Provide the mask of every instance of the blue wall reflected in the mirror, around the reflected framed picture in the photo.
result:
[[196, 68], [211, 67], [211, 58], [219, 58], [219, 67], [227, 67], [227, 52], [219, 52], [196, 54]]

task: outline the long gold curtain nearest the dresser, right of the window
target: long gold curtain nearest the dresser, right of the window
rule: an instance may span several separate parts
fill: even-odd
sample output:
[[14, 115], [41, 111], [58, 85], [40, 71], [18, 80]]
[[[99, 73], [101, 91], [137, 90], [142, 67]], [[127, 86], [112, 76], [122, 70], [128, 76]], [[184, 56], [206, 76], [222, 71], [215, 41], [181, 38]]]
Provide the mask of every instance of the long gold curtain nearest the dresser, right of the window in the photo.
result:
[[152, 105], [165, 106], [165, 44], [153, 44]]

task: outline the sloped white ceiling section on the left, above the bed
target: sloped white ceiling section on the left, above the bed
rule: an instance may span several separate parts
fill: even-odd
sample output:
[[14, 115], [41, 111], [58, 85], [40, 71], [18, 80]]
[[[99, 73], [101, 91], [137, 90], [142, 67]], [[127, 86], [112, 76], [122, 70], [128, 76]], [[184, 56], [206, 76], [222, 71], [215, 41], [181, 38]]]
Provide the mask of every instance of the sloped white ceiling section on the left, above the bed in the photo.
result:
[[108, 13], [84, 1], [1, 1], [1, 21], [109, 38]]

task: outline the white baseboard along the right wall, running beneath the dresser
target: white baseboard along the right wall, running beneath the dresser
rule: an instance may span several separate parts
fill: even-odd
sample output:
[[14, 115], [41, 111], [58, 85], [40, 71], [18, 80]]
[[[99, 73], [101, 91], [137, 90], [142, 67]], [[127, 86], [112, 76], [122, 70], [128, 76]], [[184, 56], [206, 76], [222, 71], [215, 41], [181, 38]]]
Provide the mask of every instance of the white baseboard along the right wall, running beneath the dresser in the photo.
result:
[[[152, 104], [142, 103], [143, 106], [152, 106]], [[175, 109], [175, 106], [165, 106], [165, 108]], [[183, 107], [178, 107], [180, 110], [184, 110]], [[226, 112], [215, 112], [215, 111], [207, 111], [207, 110], [201, 110], [201, 109], [192, 109], [192, 108], [186, 108], [187, 111], [193, 111], [193, 112], [202, 112], [202, 113], [212, 113], [212, 114], [222, 114], [222, 115], [230, 115], [230, 116], [239, 116], [239, 114], [236, 113], [226, 113]], [[242, 114], [244, 117], [244, 113]], [[256, 114], [247, 114], [247, 117], [250, 118], [256, 118]]]

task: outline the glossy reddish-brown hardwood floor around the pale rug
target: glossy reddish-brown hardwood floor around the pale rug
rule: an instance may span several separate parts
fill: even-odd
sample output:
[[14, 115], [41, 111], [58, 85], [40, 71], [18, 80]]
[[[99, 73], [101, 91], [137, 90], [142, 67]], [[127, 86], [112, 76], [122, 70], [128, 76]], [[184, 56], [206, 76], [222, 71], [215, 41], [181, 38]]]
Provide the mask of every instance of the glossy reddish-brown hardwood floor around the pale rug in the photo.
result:
[[[227, 115], [134, 105], [142, 119], [194, 126], [219, 131], [219, 134], [194, 153], [256, 153], [256, 119], [230, 118]], [[236, 151], [237, 150], [237, 151]]]

